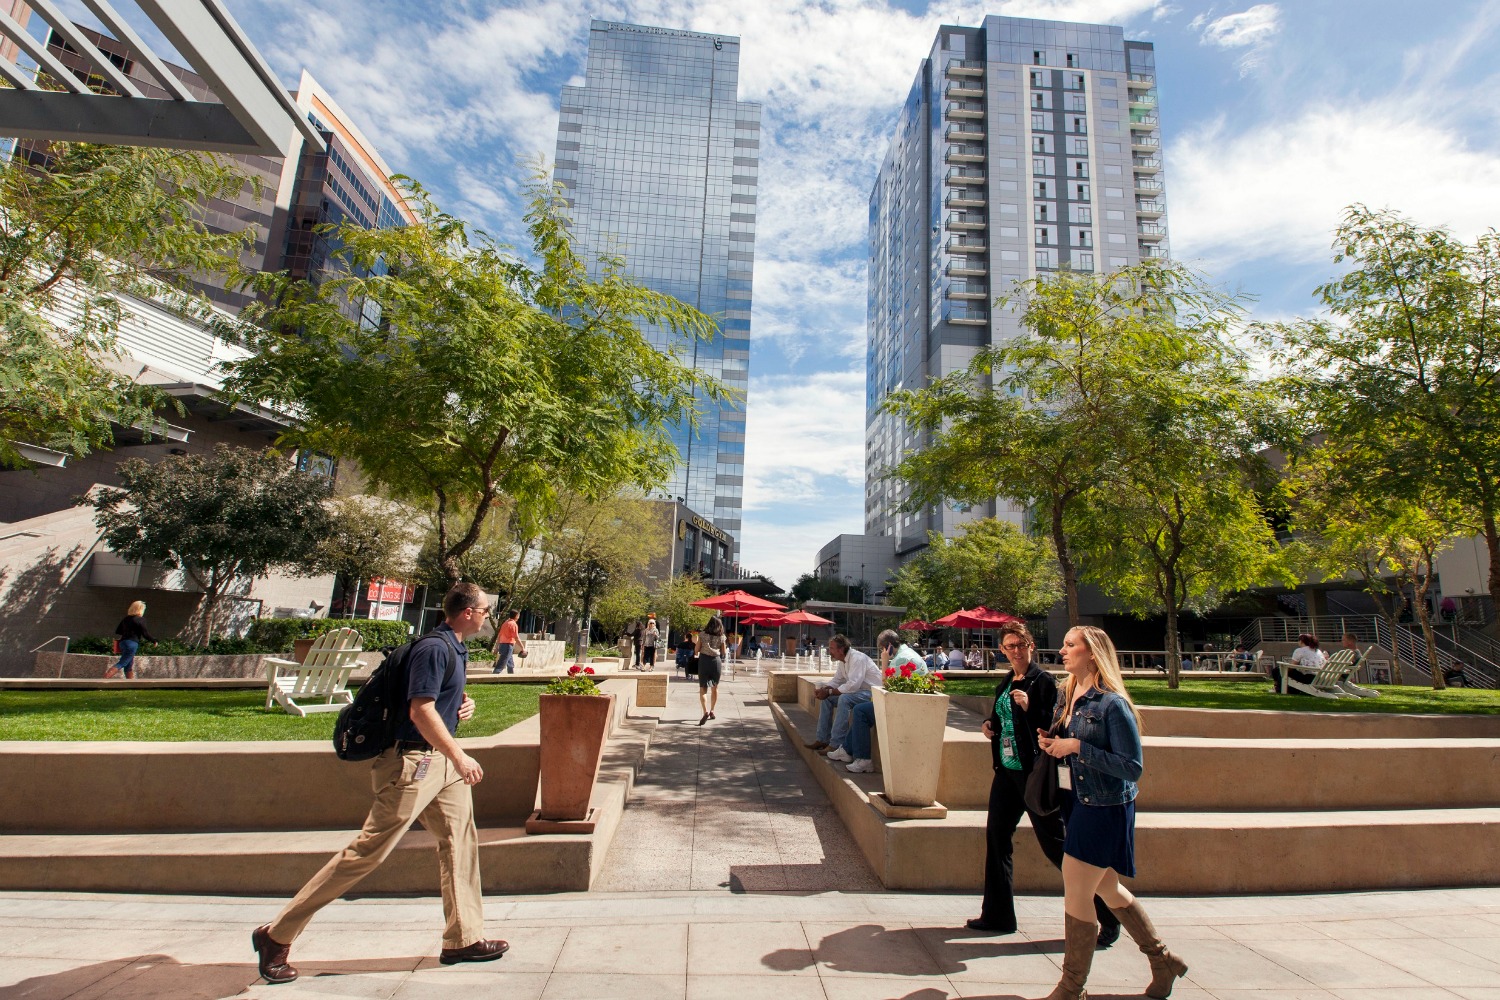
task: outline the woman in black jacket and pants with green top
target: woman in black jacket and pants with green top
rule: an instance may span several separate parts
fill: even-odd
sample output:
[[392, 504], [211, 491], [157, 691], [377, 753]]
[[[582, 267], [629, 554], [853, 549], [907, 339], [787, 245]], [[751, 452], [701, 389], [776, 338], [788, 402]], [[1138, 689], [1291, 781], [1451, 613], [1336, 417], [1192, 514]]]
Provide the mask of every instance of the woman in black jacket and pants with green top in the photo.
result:
[[[1026, 808], [1026, 775], [1038, 759], [1036, 730], [1052, 726], [1058, 705], [1058, 682], [1032, 661], [1036, 642], [1024, 622], [1000, 627], [1000, 652], [1011, 661], [1011, 672], [994, 687], [994, 706], [984, 721], [994, 760], [990, 784], [990, 816], [984, 825], [984, 903], [980, 916], [969, 921], [970, 931], [1016, 933], [1014, 838], [1022, 816], [1030, 816], [1032, 832], [1047, 861], [1062, 868], [1062, 814], [1036, 816]], [[1098, 948], [1108, 948], [1120, 936], [1120, 922], [1098, 897], [1094, 910], [1100, 918]]]

